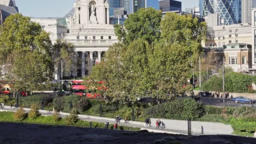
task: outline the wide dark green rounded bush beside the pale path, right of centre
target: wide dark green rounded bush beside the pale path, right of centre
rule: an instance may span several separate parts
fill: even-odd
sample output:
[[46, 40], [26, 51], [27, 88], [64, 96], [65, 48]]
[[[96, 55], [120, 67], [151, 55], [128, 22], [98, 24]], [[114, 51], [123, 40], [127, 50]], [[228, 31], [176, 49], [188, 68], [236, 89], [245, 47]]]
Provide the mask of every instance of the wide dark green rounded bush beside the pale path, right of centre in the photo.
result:
[[195, 120], [203, 116], [205, 107], [194, 99], [184, 98], [155, 105], [145, 110], [145, 114], [154, 118], [167, 118], [178, 120]]

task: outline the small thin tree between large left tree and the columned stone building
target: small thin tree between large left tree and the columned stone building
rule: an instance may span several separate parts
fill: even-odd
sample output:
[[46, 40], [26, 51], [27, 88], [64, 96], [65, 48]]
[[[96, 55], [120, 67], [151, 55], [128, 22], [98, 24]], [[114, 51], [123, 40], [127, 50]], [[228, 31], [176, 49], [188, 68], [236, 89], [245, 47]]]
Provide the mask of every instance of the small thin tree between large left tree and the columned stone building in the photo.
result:
[[[57, 40], [53, 45], [53, 58], [55, 69], [61, 69], [61, 59], [62, 59], [62, 75], [66, 75], [71, 70], [74, 65], [74, 46], [66, 41]], [[57, 72], [57, 71], [56, 71]]]

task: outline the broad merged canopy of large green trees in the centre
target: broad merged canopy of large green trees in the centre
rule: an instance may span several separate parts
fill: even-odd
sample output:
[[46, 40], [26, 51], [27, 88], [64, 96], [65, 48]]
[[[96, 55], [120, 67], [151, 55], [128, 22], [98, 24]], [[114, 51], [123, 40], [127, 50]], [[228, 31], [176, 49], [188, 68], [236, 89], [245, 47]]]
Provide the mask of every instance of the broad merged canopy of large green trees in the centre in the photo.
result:
[[121, 41], [109, 47], [89, 77], [106, 81], [110, 101], [168, 100], [191, 89], [189, 74], [201, 55], [206, 25], [190, 15], [167, 13], [161, 19], [157, 10], [139, 9], [124, 27], [115, 26]]

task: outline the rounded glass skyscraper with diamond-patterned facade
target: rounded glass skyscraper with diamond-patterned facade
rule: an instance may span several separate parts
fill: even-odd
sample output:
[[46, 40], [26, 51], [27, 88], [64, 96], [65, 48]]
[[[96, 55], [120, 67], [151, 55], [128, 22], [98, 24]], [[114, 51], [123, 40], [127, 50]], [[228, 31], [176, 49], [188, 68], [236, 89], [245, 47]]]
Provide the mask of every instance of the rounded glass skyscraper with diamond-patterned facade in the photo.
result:
[[203, 16], [219, 14], [222, 25], [241, 23], [241, 0], [200, 0]]

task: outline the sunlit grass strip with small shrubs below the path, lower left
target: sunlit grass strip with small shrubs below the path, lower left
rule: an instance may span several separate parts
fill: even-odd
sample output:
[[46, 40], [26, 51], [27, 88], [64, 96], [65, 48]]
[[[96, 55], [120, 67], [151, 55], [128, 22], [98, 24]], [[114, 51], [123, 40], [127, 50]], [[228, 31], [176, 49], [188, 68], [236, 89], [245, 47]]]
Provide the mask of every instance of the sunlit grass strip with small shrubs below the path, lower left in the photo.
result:
[[[14, 121], [13, 112], [0, 112], [0, 122], [15, 122], [15, 123], [33, 123], [33, 124], [46, 124], [46, 125], [63, 125], [63, 126], [72, 126], [72, 127], [84, 127], [89, 128], [90, 124], [87, 121], [79, 120], [73, 125], [66, 124], [64, 119], [61, 119], [59, 122], [53, 121], [52, 116], [39, 116], [36, 119], [26, 118], [21, 122]], [[92, 122], [92, 128], [104, 128], [104, 123]], [[109, 124], [109, 128], [113, 129], [113, 124]], [[140, 128], [119, 126], [118, 130], [128, 130], [138, 131]]]

